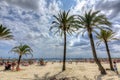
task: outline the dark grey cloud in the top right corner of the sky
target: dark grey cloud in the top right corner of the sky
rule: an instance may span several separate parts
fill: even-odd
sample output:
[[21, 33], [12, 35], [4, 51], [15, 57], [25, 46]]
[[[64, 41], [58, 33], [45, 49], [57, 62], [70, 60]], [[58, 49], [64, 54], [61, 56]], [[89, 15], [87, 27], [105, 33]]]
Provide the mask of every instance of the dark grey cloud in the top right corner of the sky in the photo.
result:
[[109, 11], [111, 10], [112, 12], [108, 17], [114, 18], [120, 13], [120, 0], [101, 0], [96, 4], [95, 8], [99, 10], [104, 10], [105, 12], [107, 12], [107, 14], [109, 14]]

